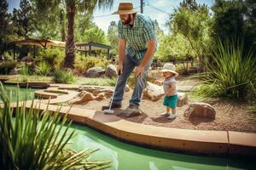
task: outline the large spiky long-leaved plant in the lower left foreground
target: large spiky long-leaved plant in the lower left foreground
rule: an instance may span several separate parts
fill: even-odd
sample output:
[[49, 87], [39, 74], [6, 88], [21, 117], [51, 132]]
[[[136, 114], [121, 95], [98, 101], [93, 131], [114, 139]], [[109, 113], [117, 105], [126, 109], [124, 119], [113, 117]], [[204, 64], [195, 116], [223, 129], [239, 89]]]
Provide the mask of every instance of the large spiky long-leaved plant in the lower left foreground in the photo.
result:
[[[39, 109], [33, 109], [36, 100], [29, 109], [26, 109], [26, 101], [19, 103], [19, 99], [16, 107], [12, 107], [11, 94], [5, 93], [2, 84], [0, 98], [3, 100], [0, 105], [1, 169], [103, 169], [110, 166], [110, 161], [88, 160], [96, 150], [77, 153], [67, 147], [75, 131], [70, 132], [71, 122], [67, 121], [67, 115], [60, 115], [60, 110], [50, 113], [46, 109], [40, 113]], [[40, 103], [37, 108], [39, 106]]]

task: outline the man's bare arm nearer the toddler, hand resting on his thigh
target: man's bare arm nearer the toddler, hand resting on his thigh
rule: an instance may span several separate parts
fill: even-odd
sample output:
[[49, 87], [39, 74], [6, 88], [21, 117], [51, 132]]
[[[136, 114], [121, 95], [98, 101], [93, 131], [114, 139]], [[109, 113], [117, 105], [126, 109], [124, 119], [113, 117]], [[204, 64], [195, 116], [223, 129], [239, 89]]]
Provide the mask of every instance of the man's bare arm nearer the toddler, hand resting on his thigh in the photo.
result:
[[143, 72], [143, 69], [145, 67], [145, 65], [148, 64], [149, 60], [151, 59], [151, 57], [154, 55], [154, 51], [155, 51], [155, 40], [151, 40], [147, 42], [147, 51], [146, 54], [143, 57], [142, 62], [140, 63], [140, 65], [137, 66], [137, 68], [135, 69], [135, 73], [136, 75], [140, 75]]

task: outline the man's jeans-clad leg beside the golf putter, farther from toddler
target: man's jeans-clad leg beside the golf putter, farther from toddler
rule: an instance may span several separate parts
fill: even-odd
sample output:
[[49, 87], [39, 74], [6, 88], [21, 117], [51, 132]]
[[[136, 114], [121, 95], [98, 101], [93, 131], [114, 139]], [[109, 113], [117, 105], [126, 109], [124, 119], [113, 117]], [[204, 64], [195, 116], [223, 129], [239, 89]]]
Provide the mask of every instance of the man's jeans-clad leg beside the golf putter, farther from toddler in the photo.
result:
[[123, 73], [119, 76], [115, 93], [113, 95], [113, 104], [116, 105], [121, 105], [127, 79], [131, 75], [131, 72], [134, 70], [136, 66], [136, 63], [133, 62], [128, 55], [125, 56], [123, 62]]

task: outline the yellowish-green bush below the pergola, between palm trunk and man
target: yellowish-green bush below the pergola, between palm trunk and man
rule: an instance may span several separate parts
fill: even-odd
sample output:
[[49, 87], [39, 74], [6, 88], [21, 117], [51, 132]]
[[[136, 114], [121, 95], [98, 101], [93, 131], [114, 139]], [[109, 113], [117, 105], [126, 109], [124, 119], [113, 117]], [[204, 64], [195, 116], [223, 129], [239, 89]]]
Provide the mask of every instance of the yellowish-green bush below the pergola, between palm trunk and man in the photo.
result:
[[79, 74], [85, 74], [88, 69], [94, 66], [105, 68], [109, 65], [108, 59], [93, 56], [81, 56], [77, 55], [74, 63], [75, 71]]

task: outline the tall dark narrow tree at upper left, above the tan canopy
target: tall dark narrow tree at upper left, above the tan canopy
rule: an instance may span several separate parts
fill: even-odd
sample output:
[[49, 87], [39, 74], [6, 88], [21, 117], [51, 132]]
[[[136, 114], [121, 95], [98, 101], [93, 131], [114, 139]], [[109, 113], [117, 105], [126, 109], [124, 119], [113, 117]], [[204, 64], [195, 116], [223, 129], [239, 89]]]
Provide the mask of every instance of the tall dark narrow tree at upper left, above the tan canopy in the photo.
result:
[[28, 0], [20, 1], [20, 8], [14, 8], [13, 21], [17, 29], [15, 33], [19, 37], [28, 38], [32, 33], [32, 6]]

